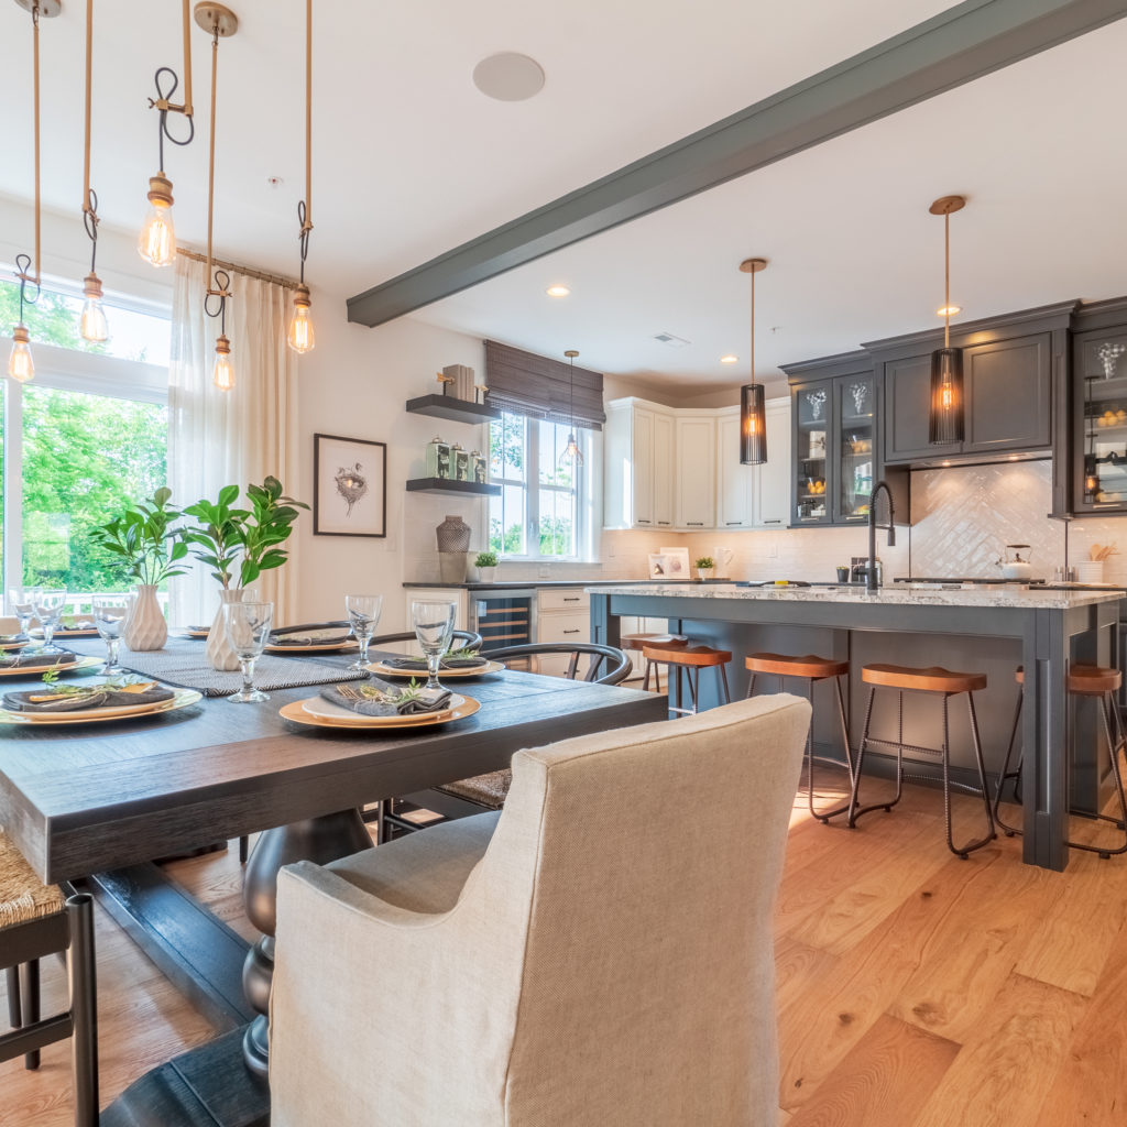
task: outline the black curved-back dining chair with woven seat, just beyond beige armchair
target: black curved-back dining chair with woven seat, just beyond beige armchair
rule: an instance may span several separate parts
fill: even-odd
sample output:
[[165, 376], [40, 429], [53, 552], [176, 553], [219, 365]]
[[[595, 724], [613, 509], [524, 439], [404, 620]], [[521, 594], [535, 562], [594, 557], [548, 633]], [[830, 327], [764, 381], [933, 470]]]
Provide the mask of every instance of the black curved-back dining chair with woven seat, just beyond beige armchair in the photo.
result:
[[[600, 685], [620, 684], [625, 681], [633, 668], [629, 655], [621, 649], [596, 642], [532, 642], [525, 646], [508, 646], [504, 649], [488, 651], [489, 658], [496, 662], [511, 662], [551, 654], [570, 655], [566, 675], [571, 681], [577, 677], [582, 657], [591, 658], [583, 680]], [[604, 665], [605, 672], [600, 676], [598, 671]], [[499, 810], [505, 805], [512, 782], [513, 772], [508, 767], [503, 767], [500, 771], [490, 771], [483, 775], [474, 775], [472, 779], [444, 783], [441, 787], [402, 799], [388, 799], [380, 804], [379, 841], [389, 841], [392, 832], [397, 835], [411, 833], [438, 822], [447, 822], [451, 818], [464, 818], [471, 814], [480, 814], [482, 810]], [[405, 810], [401, 804], [407, 804], [410, 810]], [[419, 823], [406, 816], [419, 807], [427, 810], [433, 817]]]

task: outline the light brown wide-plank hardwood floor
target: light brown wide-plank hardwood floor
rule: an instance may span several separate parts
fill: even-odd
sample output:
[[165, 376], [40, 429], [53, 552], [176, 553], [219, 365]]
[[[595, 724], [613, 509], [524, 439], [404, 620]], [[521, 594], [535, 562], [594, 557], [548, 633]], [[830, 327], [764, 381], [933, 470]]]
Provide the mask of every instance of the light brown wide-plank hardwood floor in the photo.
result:
[[[977, 833], [982, 806], [953, 807], [956, 834]], [[1074, 823], [1083, 840], [1109, 831]], [[1020, 852], [1001, 837], [952, 857], [934, 790], [906, 788], [855, 831], [811, 822], [796, 799], [777, 917], [781, 1125], [1127, 1121], [1127, 857], [1074, 851], [1053, 873]], [[236, 843], [171, 870], [252, 934]], [[98, 943], [107, 1102], [211, 1031], [101, 913]], [[61, 965], [45, 965], [45, 1006], [62, 986]], [[45, 1049], [38, 1073], [0, 1065], [5, 1127], [68, 1127], [66, 1054]]]

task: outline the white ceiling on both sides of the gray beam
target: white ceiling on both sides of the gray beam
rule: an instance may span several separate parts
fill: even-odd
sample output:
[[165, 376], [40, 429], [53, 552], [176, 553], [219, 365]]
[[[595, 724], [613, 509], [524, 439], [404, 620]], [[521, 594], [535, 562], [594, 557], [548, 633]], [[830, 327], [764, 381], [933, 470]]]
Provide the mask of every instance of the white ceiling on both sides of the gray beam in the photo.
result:
[[[304, 5], [232, 7], [241, 26], [220, 45], [216, 251], [293, 274]], [[341, 296], [367, 289], [946, 7], [316, 0], [310, 281]], [[106, 225], [132, 231], [157, 165], [152, 72], [180, 66], [179, 3], [98, 0], [95, 18], [94, 184]], [[83, 23], [82, 0], [63, 0], [42, 32], [44, 203], [59, 210], [81, 204]], [[210, 43], [198, 29], [193, 43], [199, 136], [169, 147], [166, 170], [177, 231], [199, 246]], [[9, 108], [0, 194], [23, 199], [29, 46], [29, 17], [0, 0]], [[477, 62], [505, 50], [543, 65], [536, 98], [500, 103], [474, 89]], [[1125, 292], [1116, 192], [1127, 172], [1125, 52], [1127, 26], [1112, 25], [415, 316], [548, 354], [576, 347], [584, 366], [686, 393], [739, 383], [745, 364], [717, 360], [747, 354], [742, 257], [771, 259], [757, 276], [761, 376], [921, 328], [941, 283], [942, 223], [926, 205], [949, 192], [970, 197], [952, 220], [965, 316]], [[270, 176], [283, 186], [269, 187]], [[573, 296], [548, 299], [556, 281]], [[663, 330], [693, 344], [657, 345]]]

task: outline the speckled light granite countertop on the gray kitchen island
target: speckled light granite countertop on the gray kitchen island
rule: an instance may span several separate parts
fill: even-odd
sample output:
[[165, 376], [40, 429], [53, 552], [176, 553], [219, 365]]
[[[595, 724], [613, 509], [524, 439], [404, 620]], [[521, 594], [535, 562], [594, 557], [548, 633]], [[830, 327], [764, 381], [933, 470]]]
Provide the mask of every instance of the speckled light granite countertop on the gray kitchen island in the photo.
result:
[[[591, 586], [587, 584], [586, 586]], [[734, 584], [656, 584], [624, 583], [601, 585], [600, 595], [646, 595], [669, 598], [734, 598], [775, 600], [798, 603], [880, 603], [881, 605], [909, 606], [1012, 606], [1020, 610], [1071, 610], [1093, 603], [1118, 602], [1120, 591], [1107, 589], [1045, 589], [1010, 587], [917, 588], [906, 584], [881, 587], [869, 592], [863, 587], [737, 587]]]

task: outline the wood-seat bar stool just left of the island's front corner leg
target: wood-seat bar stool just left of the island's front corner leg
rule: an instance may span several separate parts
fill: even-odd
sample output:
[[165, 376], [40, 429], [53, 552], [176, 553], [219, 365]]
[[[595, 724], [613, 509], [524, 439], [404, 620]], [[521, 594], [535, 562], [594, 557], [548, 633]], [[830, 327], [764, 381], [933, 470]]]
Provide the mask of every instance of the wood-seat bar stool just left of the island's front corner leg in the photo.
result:
[[[904, 779], [908, 778], [923, 778], [921, 775], [906, 775], [904, 774], [904, 749], [907, 748], [909, 752], [919, 752], [924, 755], [939, 755], [942, 758], [943, 764], [943, 816], [947, 822], [947, 848], [956, 854], [956, 857], [966, 860], [967, 857], [973, 853], [976, 849], [982, 849], [983, 845], [992, 842], [997, 833], [994, 829], [994, 811], [991, 808], [990, 802], [990, 789], [986, 786], [986, 767], [983, 764], [983, 748], [982, 739], [978, 736], [978, 718], [975, 715], [975, 698], [976, 692], [980, 692], [986, 687], [986, 674], [985, 673], [953, 673], [950, 669], [943, 669], [939, 666], [932, 666], [926, 669], [914, 669], [905, 665], [866, 665], [861, 669], [861, 680], [869, 685], [869, 700], [864, 709], [864, 733], [861, 736], [861, 746], [858, 748], [857, 753], [857, 771], [853, 775], [853, 793], [850, 796], [849, 802], [849, 826], [854, 828], [857, 826], [857, 819], [862, 814], [868, 814], [870, 810], [891, 810], [891, 808], [900, 800], [904, 790]], [[872, 700], [876, 695], [877, 689], [895, 689], [897, 690], [898, 698], [898, 728], [897, 738], [891, 739], [875, 739], [869, 735], [869, 722], [872, 719]], [[943, 746], [940, 748], [935, 747], [917, 747], [913, 744], [904, 743], [904, 693], [905, 691], [912, 692], [923, 692], [923, 693], [939, 693], [943, 698]], [[966, 787], [962, 783], [951, 782], [950, 778], [950, 728], [948, 719], [948, 702], [952, 696], [957, 696], [959, 693], [967, 694], [967, 711], [970, 717], [970, 736], [974, 740], [975, 746], [975, 763], [978, 767], [978, 780], [980, 783], [980, 790], [975, 790], [973, 787]], [[880, 744], [885, 747], [896, 748], [896, 798], [890, 802], [876, 802], [872, 806], [866, 806], [858, 809], [858, 801], [860, 798], [861, 789], [861, 772], [864, 766], [864, 752], [869, 744]], [[978, 841], [967, 842], [966, 845], [956, 846], [951, 837], [951, 789], [956, 788], [958, 790], [966, 790], [974, 793], [980, 793], [983, 800], [983, 807], [986, 811], [986, 824], [988, 832], [985, 837]]]

